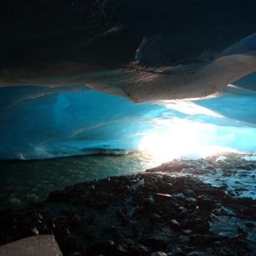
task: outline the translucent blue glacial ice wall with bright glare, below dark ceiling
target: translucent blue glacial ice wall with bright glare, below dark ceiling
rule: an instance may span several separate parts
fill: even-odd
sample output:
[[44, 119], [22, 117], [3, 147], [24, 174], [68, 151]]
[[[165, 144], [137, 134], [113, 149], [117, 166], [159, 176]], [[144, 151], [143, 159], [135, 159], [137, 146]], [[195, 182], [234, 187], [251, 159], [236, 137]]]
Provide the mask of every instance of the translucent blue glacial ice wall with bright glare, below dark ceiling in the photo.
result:
[[[250, 81], [254, 81], [250, 76]], [[0, 88], [0, 159], [149, 150], [170, 157], [256, 151], [256, 86], [135, 104], [86, 86]]]

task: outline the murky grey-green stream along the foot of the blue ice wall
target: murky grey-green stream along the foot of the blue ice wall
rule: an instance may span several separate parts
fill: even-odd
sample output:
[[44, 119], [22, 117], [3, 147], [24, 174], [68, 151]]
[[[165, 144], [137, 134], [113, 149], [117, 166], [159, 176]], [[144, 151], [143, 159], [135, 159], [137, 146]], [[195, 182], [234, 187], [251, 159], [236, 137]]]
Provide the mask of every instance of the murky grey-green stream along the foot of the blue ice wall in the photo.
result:
[[74, 156], [37, 161], [0, 161], [0, 208], [41, 201], [50, 191], [79, 182], [131, 175], [156, 166], [150, 156]]

